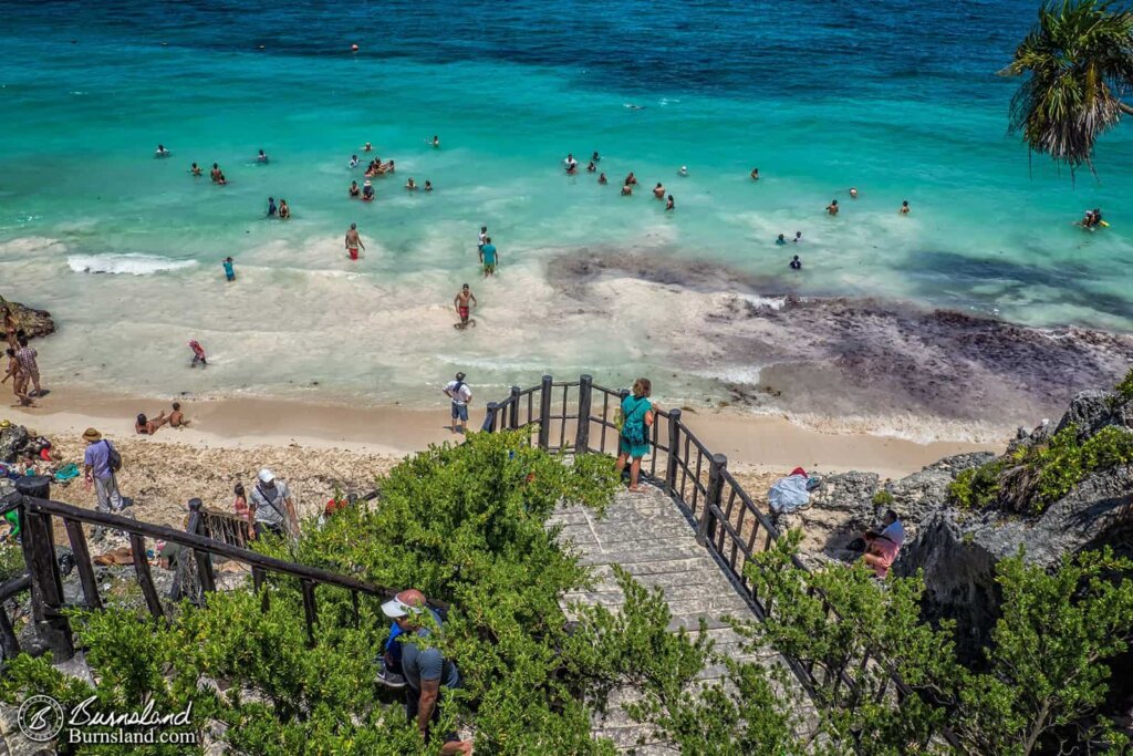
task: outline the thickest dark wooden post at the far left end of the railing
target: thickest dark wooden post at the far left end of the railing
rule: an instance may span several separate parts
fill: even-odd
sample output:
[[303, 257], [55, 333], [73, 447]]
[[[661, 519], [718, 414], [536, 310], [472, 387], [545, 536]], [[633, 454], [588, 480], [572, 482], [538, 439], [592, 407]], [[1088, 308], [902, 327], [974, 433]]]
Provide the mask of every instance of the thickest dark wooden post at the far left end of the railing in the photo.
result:
[[63, 581], [56, 559], [56, 543], [51, 532], [51, 517], [33, 509], [29, 496], [48, 499], [50, 478], [24, 477], [16, 482], [23, 494], [19, 508], [19, 532], [23, 535], [24, 563], [32, 578], [32, 621], [35, 635], [51, 652], [54, 661], [66, 662], [75, 655], [70, 623], [62, 614]]

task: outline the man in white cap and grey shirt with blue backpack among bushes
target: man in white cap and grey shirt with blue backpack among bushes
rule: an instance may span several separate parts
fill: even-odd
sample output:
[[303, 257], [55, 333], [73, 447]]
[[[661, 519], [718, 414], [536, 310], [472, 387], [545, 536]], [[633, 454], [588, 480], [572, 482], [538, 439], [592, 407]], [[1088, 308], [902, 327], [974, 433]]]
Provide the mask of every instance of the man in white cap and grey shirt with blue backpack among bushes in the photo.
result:
[[[441, 716], [438, 697], [441, 686], [452, 690], [460, 687], [457, 664], [429, 644], [417, 646], [417, 638], [429, 637], [441, 630], [441, 615], [425, 603], [425, 594], [409, 588], [382, 604], [382, 612], [398, 626], [404, 640], [401, 646], [401, 673], [406, 679], [406, 715], [416, 721], [421, 736], [428, 740], [429, 724]], [[429, 617], [432, 615], [432, 617]], [[445, 733], [442, 755], [471, 754], [472, 741], [461, 740], [455, 732]]]

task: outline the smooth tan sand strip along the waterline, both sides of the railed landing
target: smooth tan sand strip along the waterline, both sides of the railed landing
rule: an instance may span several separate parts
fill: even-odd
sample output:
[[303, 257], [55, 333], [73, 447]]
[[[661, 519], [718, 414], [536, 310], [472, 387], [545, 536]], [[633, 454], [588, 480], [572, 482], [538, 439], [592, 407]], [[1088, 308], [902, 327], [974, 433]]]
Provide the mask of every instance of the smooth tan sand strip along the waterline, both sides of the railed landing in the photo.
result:
[[[401, 407], [347, 407], [291, 400], [227, 398], [181, 399], [191, 419], [188, 428], [162, 428], [152, 438], [136, 436], [133, 418], [138, 411], [156, 415], [169, 409], [153, 399], [94, 393], [54, 387], [39, 408], [6, 408], [7, 417], [51, 436], [76, 436], [88, 426], [113, 440], [137, 440], [164, 445], [203, 449], [253, 449], [292, 447], [400, 458], [459, 439], [449, 430], [446, 406], [436, 409]], [[483, 404], [471, 408], [475, 428], [483, 419]], [[915, 443], [901, 438], [835, 432], [794, 424], [782, 416], [747, 415], [741, 411], [685, 410], [685, 423], [714, 451], [727, 455], [733, 467], [791, 469], [796, 465], [827, 470], [861, 469], [898, 476], [920, 469], [940, 457], [994, 449], [1002, 441], [973, 443], [939, 440]]]

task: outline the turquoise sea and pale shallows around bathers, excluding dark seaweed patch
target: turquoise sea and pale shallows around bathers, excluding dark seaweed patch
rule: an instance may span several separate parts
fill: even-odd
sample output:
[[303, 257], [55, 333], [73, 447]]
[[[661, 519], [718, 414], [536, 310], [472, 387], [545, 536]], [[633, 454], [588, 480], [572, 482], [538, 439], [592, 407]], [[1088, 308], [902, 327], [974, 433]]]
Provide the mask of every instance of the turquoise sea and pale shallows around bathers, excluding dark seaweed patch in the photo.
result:
[[[996, 71], [1034, 7], [0, 2], [0, 294], [59, 320], [41, 350], [56, 381], [380, 402], [432, 400], [458, 368], [489, 391], [544, 371], [679, 372], [732, 296], [556, 278], [589, 255], [723, 265], [768, 296], [1133, 330], [1133, 127], [1076, 184], [1005, 134], [1015, 83]], [[367, 141], [398, 171], [364, 205], [347, 163]], [[563, 173], [593, 151], [610, 186]], [[621, 197], [631, 170], [639, 194]], [[411, 195], [410, 176], [436, 190]], [[265, 220], [269, 195], [293, 220]], [[1111, 228], [1071, 224], [1097, 205]], [[480, 224], [502, 257], [486, 282]], [[796, 230], [800, 247], [773, 244]], [[458, 332], [466, 281], [478, 326]], [[185, 369], [190, 338], [206, 373]], [[763, 367], [692, 362], [671, 394]]]

